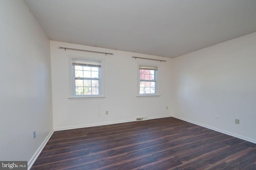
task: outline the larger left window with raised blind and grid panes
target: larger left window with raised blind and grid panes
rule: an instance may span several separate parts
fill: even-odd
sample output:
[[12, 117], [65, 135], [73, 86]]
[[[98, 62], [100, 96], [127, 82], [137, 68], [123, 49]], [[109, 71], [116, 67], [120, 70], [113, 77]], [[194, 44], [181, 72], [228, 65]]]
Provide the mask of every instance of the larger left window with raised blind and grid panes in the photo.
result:
[[100, 97], [102, 61], [79, 58], [71, 61], [73, 96]]

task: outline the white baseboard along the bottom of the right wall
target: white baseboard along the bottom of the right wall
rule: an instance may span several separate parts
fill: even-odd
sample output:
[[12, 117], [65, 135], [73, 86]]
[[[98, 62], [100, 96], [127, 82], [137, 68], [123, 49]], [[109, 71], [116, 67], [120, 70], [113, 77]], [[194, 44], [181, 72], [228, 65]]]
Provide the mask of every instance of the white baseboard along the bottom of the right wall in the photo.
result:
[[205, 127], [205, 128], [209, 128], [209, 129], [212, 129], [212, 130], [215, 130], [217, 132], [221, 132], [221, 133], [224, 133], [224, 134], [228, 134], [230, 136], [234, 136], [236, 138], [240, 138], [240, 139], [243, 139], [243, 140], [246, 140], [246, 141], [249, 141], [249, 142], [252, 142], [252, 143], [255, 143], [256, 144], [256, 140], [255, 139], [252, 139], [252, 138], [248, 138], [246, 136], [242, 136], [242, 135], [239, 135], [239, 134], [235, 134], [235, 133], [232, 133], [232, 132], [228, 132], [228, 131], [225, 131], [225, 130], [221, 130], [221, 129], [218, 129], [218, 128], [214, 128], [214, 127], [210, 127], [208, 125], [204, 125], [204, 124], [201, 124], [201, 123], [198, 123], [198, 122], [194, 122], [194, 121], [190, 121], [188, 119], [184, 119], [182, 117], [178, 117], [178, 116], [175, 116], [175, 115], [172, 115], [171, 117], [174, 117], [174, 118], [177, 118], [177, 119], [180, 119], [182, 121], [186, 121], [186, 122], [189, 122], [189, 123], [193, 123], [195, 125], [199, 125], [201, 127]]

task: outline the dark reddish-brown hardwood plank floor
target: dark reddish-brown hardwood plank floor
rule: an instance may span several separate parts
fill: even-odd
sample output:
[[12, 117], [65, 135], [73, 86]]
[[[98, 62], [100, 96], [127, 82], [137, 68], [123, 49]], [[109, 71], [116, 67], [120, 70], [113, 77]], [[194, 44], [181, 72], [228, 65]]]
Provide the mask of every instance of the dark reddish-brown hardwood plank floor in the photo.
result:
[[38, 169], [256, 170], [256, 144], [170, 117], [56, 131]]

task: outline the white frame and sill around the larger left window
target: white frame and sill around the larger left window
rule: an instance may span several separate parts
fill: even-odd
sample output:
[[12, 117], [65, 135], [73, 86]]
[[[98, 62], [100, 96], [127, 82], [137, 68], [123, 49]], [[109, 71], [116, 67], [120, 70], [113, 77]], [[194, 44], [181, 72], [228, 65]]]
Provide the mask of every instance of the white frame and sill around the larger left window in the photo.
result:
[[[75, 69], [73, 65], [73, 59], [87, 60], [87, 61], [99, 61], [101, 62], [101, 67], [99, 68], [99, 94], [98, 95], [76, 95], [76, 85], [75, 85]], [[95, 59], [90, 57], [78, 57], [69, 56], [69, 97], [68, 99], [81, 100], [81, 99], [104, 99], [104, 59]], [[93, 78], [92, 78], [93, 79]]]

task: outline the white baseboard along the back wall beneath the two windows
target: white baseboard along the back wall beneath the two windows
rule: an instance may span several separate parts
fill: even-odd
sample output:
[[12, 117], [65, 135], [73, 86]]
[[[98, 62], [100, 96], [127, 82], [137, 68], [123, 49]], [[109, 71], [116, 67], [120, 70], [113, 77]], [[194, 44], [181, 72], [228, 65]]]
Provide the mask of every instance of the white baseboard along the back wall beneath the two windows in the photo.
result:
[[[165, 118], [165, 117], [171, 117], [171, 115], [164, 115], [164, 116], [154, 116], [154, 117], [148, 117], [148, 119], [159, 119], [159, 118]], [[96, 126], [102, 126], [102, 125], [112, 125], [117, 123], [128, 123], [128, 122], [135, 122], [136, 119], [128, 119], [123, 121], [114, 121], [114, 122], [105, 122], [105, 123], [94, 123], [94, 124], [88, 124], [88, 125], [78, 125], [78, 126], [70, 126], [70, 127], [62, 127], [62, 128], [54, 128], [54, 131], [59, 130], [69, 130], [69, 129], [75, 129], [75, 128], [85, 128], [85, 127], [96, 127]]]

